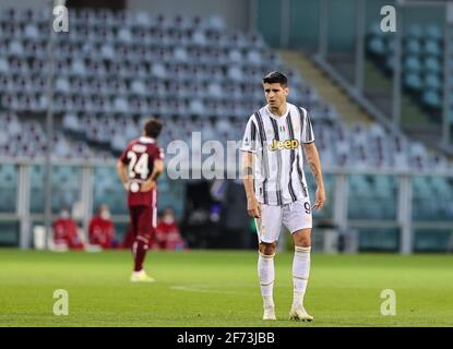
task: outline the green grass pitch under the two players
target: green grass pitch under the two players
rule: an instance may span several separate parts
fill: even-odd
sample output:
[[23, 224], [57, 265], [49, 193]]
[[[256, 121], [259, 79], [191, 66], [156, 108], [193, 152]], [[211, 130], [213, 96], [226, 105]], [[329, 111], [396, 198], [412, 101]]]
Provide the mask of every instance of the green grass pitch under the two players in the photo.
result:
[[[453, 326], [451, 255], [312, 253], [306, 308], [312, 323], [288, 321], [291, 253], [277, 254], [276, 322], [263, 322], [257, 252], [150, 252], [154, 284], [129, 281], [128, 251], [0, 250], [0, 326]], [[69, 315], [52, 313], [56, 289]], [[381, 291], [396, 315], [381, 315]]]

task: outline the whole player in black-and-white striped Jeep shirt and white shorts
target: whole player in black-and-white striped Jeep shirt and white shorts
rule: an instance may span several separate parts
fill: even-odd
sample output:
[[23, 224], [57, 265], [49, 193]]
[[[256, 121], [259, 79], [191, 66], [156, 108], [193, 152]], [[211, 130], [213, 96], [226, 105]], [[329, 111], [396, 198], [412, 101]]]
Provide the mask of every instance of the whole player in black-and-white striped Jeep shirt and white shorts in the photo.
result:
[[[287, 77], [271, 72], [263, 77], [263, 88], [267, 105], [250, 117], [241, 146], [247, 209], [255, 218], [259, 239], [263, 320], [276, 318], [274, 255], [283, 224], [295, 244], [289, 318], [312, 321], [303, 306], [303, 296], [310, 274], [311, 209], [321, 209], [325, 202], [321, 163], [307, 110], [286, 101]], [[313, 206], [303, 173], [303, 151], [318, 185]]]

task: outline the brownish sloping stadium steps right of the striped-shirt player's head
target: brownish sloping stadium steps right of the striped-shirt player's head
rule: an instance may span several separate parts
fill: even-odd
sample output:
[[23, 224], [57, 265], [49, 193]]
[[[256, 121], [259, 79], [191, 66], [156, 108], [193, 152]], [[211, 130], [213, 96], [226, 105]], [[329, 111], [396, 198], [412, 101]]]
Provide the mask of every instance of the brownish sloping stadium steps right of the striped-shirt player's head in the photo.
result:
[[345, 123], [350, 125], [359, 122], [369, 125], [372, 122], [372, 118], [302, 52], [281, 50], [279, 53], [286, 65], [296, 69], [324, 101], [336, 108]]

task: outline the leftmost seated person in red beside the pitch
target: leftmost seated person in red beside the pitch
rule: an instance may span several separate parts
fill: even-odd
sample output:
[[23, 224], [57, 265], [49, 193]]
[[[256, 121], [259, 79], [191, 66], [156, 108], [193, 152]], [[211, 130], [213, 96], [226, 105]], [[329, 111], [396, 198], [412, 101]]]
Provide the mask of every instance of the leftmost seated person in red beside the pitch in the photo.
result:
[[69, 208], [61, 209], [59, 217], [53, 221], [52, 228], [56, 250], [83, 250], [85, 248], [81, 231], [71, 218]]

